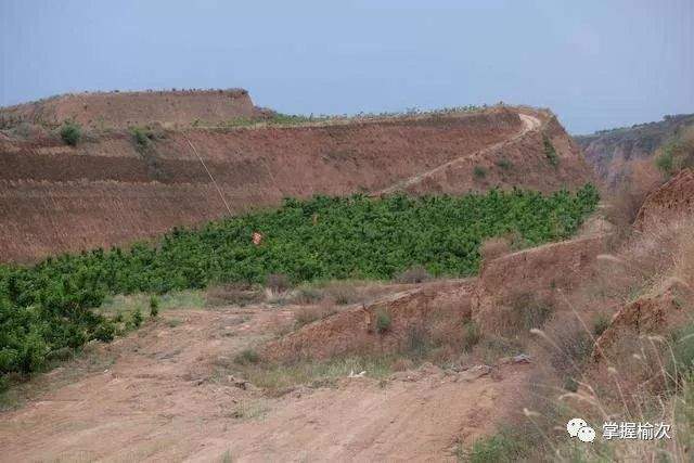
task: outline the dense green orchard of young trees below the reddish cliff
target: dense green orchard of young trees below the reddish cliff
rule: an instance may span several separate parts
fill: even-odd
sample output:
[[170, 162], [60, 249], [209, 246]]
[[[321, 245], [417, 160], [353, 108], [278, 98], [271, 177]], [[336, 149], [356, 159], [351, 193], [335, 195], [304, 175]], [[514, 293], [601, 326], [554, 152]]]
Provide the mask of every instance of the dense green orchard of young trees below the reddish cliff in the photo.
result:
[[414, 265], [434, 275], [471, 275], [484, 240], [510, 232], [527, 245], [566, 239], [597, 201], [590, 184], [551, 195], [286, 200], [273, 210], [175, 229], [153, 244], [0, 266], [0, 374], [28, 373], [56, 350], [112, 339], [113, 322], [91, 310], [106, 295], [262, 283], [273, 273], [294, 283], [383, 280]]

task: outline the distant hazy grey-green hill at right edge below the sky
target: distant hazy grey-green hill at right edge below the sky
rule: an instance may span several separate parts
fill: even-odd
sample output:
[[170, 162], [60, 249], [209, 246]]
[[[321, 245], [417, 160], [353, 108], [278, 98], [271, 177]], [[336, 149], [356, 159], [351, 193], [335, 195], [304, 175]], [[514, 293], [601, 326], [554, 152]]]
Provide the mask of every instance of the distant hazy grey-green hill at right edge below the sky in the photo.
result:
[[658, 123], [639, 124], [574, 139], [599, 176], [615, 184], [627, 172], [630, 163], [652, 156], [658, 147], [694, 127], [694, 114], [665, 116]]

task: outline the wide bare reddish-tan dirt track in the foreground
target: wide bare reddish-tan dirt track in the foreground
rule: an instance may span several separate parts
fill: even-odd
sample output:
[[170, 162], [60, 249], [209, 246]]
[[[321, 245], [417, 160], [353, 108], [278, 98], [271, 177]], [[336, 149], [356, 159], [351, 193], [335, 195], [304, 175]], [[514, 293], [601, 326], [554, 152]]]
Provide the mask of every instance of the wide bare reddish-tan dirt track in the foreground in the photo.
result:
[[448, 460], [457, 439], [493, 429], [528, 374], [506, 365], [474, 378], [429, 366], [271, 398], [216, 373], [292, 317], [264, 307], [167, 311], [90, 353], [112, 359], [103, 371], [75, 376], [68, 363], [48, 375], [53, 390], [0, 414], [0, 461]]

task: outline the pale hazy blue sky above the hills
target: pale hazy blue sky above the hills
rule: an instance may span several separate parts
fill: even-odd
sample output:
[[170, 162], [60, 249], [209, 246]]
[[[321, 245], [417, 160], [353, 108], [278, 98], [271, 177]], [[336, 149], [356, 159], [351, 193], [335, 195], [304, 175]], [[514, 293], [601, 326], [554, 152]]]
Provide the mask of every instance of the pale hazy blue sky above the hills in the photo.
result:
[[0, 0], [0, 105], [243, 87], [286, 113], [549, 106], [574, 133], [694, 113], [694, 0]]

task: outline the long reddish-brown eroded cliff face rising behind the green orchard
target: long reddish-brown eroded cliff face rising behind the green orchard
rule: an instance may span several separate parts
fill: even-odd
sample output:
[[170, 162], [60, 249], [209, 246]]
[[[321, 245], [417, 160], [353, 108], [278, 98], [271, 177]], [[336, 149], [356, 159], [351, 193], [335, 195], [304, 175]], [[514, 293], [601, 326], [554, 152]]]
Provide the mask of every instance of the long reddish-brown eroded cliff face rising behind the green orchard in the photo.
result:
[[55, 134], [0, 138], [0, 260], [125, 245], [228, 216], [224, 201], [237, 214], [287, 196], [380, 194], [408, 181], [414, 193], [461, 193], [592, 180], [556, 119], [531, 108], [151, 136], [143, 146], [128, 130], [95, 130], [74, 147]]

